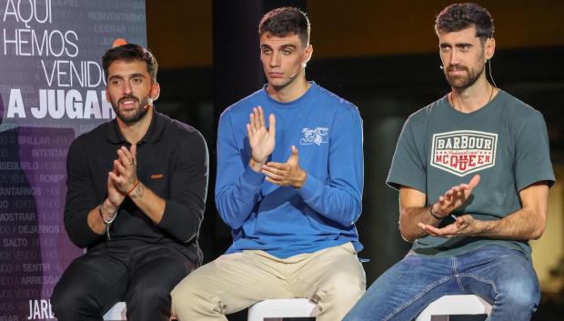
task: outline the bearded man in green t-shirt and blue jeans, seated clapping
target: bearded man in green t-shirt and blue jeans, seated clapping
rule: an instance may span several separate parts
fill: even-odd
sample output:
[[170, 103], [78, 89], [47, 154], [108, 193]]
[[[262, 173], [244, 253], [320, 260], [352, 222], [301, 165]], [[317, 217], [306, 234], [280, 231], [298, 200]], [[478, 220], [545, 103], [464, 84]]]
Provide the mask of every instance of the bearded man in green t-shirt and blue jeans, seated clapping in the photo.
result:
[[486, 9], [449, 5], [435, 29], [451, 91], [409, 116], [388, 175], [413, 247], [345, 320], [411, 320], [461, 294], [487, 300], [488, 320], [529, 320], [539, 280], [528, 241], [545, 229], [554, 183], [547, 128], [538, 111], [488, 82], [496, 42]]

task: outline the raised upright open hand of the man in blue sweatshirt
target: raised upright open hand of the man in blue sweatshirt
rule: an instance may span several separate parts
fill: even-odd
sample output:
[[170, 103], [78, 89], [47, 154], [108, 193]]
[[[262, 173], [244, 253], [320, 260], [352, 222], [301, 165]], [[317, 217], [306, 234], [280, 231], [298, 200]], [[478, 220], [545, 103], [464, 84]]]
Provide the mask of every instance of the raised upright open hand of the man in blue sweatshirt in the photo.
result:
[[262, 166], [267, 162], [268, 156], [274, 151], [276, 145], [276, 118], [273, 114], [268, 116], [268, 130], [265, 125], [265, 115], [261, 106], [253, 108], [247, 124], [248, 142], [251, 146], [251, 160], [249, 166], [260, 173]]

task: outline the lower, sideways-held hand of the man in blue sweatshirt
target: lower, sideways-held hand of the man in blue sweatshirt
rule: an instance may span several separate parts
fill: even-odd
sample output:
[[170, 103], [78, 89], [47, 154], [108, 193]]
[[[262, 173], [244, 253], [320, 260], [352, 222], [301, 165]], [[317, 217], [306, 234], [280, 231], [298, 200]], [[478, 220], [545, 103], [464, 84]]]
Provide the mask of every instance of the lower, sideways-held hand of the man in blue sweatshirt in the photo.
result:
[[299, 167], [297, 148], [292, 146], [292, 155], [286, 163], [268, 162], [262, 167], [262, 173], [267, 176], [267, 182], [277, 186], [292, 186], [301, 188], [306, 184], [306, 172]]

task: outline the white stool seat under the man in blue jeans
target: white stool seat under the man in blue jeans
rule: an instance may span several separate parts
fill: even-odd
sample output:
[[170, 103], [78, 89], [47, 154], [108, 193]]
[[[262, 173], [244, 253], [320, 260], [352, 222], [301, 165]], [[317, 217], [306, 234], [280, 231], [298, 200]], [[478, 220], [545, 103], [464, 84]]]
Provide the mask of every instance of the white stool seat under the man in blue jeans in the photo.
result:
[[451, 315], [488, 315], [491, 306], [476, 295], [442, 296], [428, 305], [416, 321], [448, 321]]

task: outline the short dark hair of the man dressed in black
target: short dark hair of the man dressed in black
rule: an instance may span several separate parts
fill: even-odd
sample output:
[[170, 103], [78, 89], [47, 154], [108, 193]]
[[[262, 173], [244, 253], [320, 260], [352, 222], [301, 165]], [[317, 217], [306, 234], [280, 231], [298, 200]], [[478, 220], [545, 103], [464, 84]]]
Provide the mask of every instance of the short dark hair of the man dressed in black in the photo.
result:
[[156, 70], [158, 69], [158, 64], [156, 63], [155, 55], [151, 54], [146, 48], [141, 45], [126, 44], [116, 46], [108, 51], [102, 56], [102, 66], [104, 67], [104, 73], [106, 74], [107, 80], [107, 70], [116, 60], [141, 60], [146, 63], [146, 71], [151, 75], [153, 82], [156, 82]]

